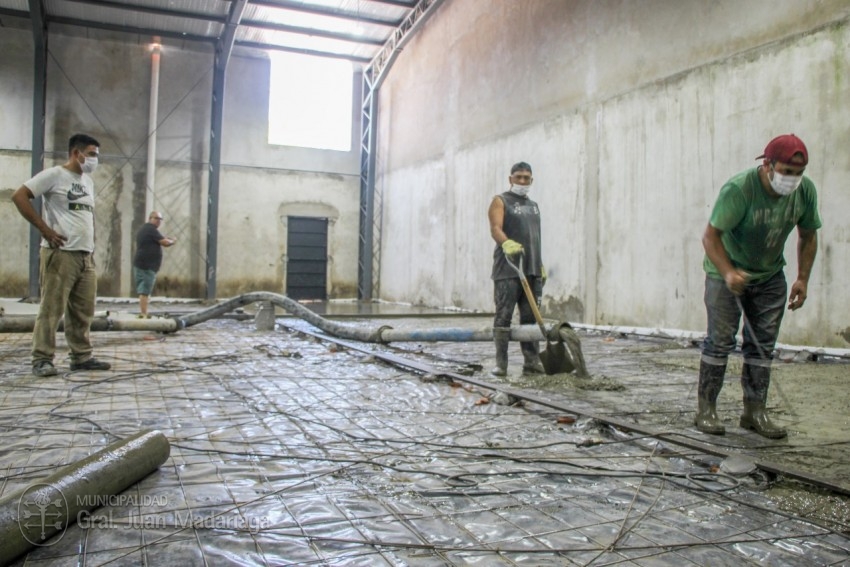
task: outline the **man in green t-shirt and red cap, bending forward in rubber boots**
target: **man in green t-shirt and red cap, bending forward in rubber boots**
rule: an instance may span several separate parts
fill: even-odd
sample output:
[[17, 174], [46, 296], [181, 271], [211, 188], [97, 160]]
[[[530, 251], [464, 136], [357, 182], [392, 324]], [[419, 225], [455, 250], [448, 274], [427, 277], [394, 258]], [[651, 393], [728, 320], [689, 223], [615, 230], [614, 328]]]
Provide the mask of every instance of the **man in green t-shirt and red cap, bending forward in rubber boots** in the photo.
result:
[[[702, 237], [708, 332], [700, 357], [694, 424], [704, 433], [725, 433], [717, 416], [717, 396], [743, 312], [744, 412], [740, 426], [781, 439], [786, 431], [765, 413], [772, 353], [786, 300], [791, 310], [806, 301], [821, 219], [815, 185], [803, 175], [809, 153], [800, 138], [778, 136], [756, 159], [762, 160], [761, 165], [723, 185]], [[783, 251], [795, 227], [797, 277], [789, 292]]]

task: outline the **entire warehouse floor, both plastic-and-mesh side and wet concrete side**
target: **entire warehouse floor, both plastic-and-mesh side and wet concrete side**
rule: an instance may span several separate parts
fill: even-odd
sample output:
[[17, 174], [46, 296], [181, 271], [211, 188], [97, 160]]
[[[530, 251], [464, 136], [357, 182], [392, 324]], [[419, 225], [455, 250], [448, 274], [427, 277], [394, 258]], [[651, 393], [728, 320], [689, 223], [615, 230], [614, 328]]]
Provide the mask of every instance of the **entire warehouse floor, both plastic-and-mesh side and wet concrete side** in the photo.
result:
[[[312, 308], [348, 325], [490, 324]], [[0, 335], [0, 498], [140, 431], [170, 442], [126, 498], [11, 564], [848, 561], [846, 359], [777, 361], [769, 406], [789, 437], [770, 441], [737, 425], [734, 358], [727, 435], [709, 437], [693, 427], [687, 340], [579, 330], [588, 378], [523, 375], [512, 343], [495, 378], [490, 343], [352, 344], [283, 313], [257, 330], [246, 311], [172, 334], [93, 333], [107, 372], [70, 372], [59, 335], [51, 378], [30, 375], [29, 334]]]

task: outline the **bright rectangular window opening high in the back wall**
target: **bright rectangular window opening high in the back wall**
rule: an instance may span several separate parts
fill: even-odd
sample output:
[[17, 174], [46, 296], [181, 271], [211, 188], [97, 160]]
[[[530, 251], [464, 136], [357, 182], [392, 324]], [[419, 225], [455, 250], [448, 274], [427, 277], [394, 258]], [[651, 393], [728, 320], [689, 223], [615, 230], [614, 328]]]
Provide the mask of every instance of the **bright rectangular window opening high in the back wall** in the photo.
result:
[[350, 61], [272, 52], [269, 143], [351, 150]]

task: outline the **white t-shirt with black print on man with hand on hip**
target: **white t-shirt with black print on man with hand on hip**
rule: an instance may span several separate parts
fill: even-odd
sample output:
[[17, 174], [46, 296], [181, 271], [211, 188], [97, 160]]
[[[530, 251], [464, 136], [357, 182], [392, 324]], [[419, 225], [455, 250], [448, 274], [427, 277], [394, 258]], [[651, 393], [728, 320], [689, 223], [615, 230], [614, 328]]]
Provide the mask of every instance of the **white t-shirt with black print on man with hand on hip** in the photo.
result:
[[[42, 197], [41, 217], [47, 226], [68, 238], [62, 250], [94, 251], [94, 183], [57, 165], [24, 183]], [[50, 243], [41, 239], [42, 248]]]

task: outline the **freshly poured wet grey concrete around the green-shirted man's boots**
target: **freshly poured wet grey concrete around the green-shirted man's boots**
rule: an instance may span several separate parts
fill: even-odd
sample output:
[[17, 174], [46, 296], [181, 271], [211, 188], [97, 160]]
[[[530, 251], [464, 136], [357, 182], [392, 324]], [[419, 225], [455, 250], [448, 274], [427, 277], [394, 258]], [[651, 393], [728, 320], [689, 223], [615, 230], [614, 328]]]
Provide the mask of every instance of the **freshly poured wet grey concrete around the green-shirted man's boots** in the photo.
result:
[[[561, 394], [578, 407], [629, 419], [660, 429], [685, 432], [701, 441], [732, 448], [834, 479], [850, 490], [850, 398], [844, 394], [850, 363], [840, 359], [780, 362], [773, 370], [768, 409], [771, 418], [788, 428], [786, 440], [771, 441], [738, 427], [742, 409], [741, 358], [733, 355], [718, 413], [727, 428], [722, 437], [704, 435], [693, 427], [699, 349], [665, 339], [579, 333], [590, 374], [523, 375], [520, 355], [505, 383]], [[441, 350], [466, 350], [464, 345]], [[472, 356], [480, 356], [474, 349]], [[498, 382], [496, 377], [490, 377]]]

